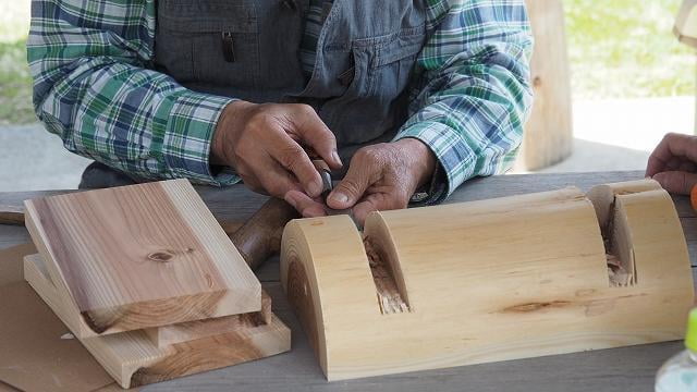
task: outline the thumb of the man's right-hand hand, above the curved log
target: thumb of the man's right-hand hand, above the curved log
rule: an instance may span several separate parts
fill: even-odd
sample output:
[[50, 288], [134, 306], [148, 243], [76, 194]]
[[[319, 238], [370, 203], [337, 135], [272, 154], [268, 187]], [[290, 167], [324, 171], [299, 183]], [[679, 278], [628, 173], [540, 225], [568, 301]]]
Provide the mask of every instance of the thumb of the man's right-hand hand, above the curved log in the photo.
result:
[[380, 162], [374, 156], [358, 150], [351, 160], [348, 172], [327, 197], [327, 205], [333, 209], [353, 207], [366, 189], [380, 177]]

